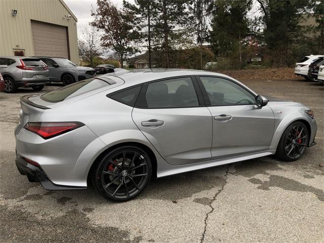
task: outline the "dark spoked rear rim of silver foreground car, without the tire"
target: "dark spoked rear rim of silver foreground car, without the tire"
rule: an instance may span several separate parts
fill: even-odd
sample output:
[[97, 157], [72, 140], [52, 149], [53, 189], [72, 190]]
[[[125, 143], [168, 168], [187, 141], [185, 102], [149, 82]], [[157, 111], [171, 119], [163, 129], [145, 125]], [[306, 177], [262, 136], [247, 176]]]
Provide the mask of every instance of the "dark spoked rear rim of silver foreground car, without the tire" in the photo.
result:
[[119, 151], [107, 158], [101, 171], [101, 186], [109, 197], [127, 200], [142, 191], [149, 173], [148, 161], [140, 152]]

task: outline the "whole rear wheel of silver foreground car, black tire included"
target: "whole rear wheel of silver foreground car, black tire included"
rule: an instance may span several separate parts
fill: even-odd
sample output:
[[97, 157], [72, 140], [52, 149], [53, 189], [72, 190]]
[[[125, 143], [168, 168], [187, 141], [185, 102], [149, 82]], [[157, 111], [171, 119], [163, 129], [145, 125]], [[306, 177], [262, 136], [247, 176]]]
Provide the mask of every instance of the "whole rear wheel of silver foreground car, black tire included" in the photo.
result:
[[123, 146], [109, 151], [99, 161], [92, 181], [105, 198], [127, 201], [144, 190], [151, 175], [148, 154], [136, 146]]

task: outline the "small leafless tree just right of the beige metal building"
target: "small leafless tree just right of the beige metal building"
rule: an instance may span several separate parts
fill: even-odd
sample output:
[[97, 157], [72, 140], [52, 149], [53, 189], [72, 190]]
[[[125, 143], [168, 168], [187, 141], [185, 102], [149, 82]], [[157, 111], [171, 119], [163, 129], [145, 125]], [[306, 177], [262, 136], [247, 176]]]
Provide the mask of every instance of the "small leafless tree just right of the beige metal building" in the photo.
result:
[[79, 55], [90, 65], [93, 66], [93, 60], [102, 54], [100, 34], [96, 27], [85, 26], [82, 28], [78, 38]]

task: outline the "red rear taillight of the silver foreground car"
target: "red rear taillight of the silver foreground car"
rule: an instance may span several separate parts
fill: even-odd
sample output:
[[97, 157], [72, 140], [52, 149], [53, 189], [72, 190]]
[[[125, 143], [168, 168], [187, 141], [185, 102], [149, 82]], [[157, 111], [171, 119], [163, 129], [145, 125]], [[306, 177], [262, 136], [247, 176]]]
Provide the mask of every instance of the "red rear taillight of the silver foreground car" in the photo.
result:
[[67, 121], [63, 123], [27, 123], [24, 128], [44, 139], [49, 139], [83, 126], [85, 125], [83, 123], [79, 123], [78, 121]]

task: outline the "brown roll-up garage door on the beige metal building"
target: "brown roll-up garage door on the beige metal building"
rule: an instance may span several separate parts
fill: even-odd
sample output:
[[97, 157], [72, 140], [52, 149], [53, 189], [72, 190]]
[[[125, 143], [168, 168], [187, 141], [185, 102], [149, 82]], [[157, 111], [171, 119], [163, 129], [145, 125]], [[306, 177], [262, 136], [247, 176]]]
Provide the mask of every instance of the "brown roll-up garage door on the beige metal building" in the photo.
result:
[[31, 21], [31, 31], [35, 56], [69, 58], [65, 26]]

